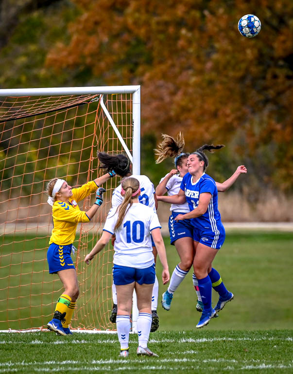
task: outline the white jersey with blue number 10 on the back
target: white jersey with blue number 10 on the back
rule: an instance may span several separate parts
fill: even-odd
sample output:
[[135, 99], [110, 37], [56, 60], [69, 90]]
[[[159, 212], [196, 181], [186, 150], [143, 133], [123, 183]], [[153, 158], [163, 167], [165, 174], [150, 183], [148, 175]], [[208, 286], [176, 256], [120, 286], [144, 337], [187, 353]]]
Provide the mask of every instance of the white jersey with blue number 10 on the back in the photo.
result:
[[114, 231], [117, 219], [117, 207], [110, 209], [103, 228], [103, 231], [116, 235], [114, 264], [137, 269], [152, 266], [155, 260], [150, 232], [161, 228], [156, 213], [149, 206], [134, 203]]

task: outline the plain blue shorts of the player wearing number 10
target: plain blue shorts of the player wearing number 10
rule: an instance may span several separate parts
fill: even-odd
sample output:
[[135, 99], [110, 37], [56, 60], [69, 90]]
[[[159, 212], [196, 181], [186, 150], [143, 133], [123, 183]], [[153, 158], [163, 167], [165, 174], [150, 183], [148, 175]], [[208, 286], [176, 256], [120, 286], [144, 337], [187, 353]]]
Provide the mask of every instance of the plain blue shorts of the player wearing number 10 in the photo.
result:
[[138, 284], [155, 283], [155, 263], [145, 269], [136, 269], [135, 267], [114, 264], [113, 283], [116, 286], [122, 286], [132, 282], [138, 282]]

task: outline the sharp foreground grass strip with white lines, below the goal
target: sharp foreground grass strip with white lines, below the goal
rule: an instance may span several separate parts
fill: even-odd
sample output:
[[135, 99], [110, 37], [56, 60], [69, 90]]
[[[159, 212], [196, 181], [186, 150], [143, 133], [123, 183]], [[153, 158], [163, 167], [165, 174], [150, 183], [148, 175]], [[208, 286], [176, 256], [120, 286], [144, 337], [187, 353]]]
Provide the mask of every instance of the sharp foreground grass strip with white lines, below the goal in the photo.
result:
[[159, 357], [119, 358], [109, 334], [58, 337], [53, 333], [0, 334], [0, 373], [292, 373], [293, 334], [269, 331], [169, 331], [151, 334]]

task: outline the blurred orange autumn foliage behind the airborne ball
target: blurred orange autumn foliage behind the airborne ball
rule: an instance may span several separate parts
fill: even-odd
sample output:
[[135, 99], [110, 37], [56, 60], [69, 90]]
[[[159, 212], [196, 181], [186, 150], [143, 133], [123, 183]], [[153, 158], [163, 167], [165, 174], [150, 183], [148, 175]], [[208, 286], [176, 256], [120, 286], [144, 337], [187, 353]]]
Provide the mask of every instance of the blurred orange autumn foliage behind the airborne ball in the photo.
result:
[[[47, 64], [57, 71], [89, 68], [108, 85], [141, 84], [143, 131], [180, 129], [188, 149], [229, 143], [253, 158], [266, 145], [276, 167], [272, 179], [290, 187], [292, 0], [75, 3], [81, 16], [69, 26], [69, 44], [56, 45]], [[247, 39], [237, 23], [252, 11], [262, 30]]]

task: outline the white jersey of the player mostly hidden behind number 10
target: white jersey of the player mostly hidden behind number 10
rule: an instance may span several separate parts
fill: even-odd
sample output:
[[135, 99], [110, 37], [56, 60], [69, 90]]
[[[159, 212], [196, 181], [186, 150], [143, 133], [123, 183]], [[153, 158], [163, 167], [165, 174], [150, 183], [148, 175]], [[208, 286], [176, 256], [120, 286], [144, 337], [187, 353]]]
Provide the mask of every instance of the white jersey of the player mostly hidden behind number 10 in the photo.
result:
[[[139, 203], [151, 207], [155, 212], [155, 188], [153, 183], [146, 175], [131, 175], [138, 180], [140, 186], [140, 195], [138, 196]], [[180, 185], [179, 185], [180, 186]], [[119, 206], [122, 203], [123, 196], [121, 195], [121, 184], [116, 187], [112, 195], [112, 207]]]

